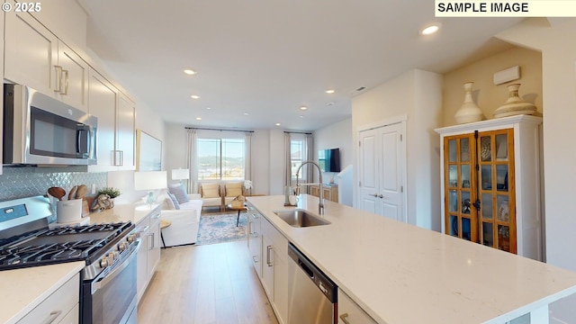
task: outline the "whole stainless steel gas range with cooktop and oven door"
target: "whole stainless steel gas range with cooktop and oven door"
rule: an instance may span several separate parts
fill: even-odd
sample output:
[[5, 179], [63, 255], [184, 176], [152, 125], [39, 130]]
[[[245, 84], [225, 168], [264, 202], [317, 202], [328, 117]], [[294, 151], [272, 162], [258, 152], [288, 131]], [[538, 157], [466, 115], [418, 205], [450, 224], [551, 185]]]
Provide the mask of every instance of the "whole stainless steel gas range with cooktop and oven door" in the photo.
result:
[[81, 323], [136, 323], [139, 238], [129, 222], [50, 229], [48, 198], [0, 202], [0, 271], [85, 261]]

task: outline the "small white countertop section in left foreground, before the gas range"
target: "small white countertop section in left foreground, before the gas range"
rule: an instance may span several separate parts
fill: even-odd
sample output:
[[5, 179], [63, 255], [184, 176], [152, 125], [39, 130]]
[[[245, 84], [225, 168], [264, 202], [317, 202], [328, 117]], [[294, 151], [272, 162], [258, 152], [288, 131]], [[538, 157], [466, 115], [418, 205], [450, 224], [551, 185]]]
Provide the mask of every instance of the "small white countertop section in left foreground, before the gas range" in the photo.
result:
[[84, 266], [77, 261], [0, 272], [0, 323], [21, 320]]

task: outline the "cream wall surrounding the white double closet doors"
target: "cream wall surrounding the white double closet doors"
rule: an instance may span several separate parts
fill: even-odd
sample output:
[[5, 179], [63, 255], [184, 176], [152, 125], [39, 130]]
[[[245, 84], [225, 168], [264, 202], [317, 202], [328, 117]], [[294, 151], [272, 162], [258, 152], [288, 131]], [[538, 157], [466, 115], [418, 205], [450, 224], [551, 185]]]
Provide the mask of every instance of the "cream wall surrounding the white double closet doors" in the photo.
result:
[[[442, 121], [442, 76], [412, 69], [352, 99], [353, 142], [358, 130], [379, 122], [408, 116], [407, 212], [410, 224], [440, 230], [439, 136], [434, 129]], [[353, 146], [353, 156], [358, 148]], [[357, 160], [354, 183], [358, 183]], [[358, 188], [355, 187], [355, 202]]]

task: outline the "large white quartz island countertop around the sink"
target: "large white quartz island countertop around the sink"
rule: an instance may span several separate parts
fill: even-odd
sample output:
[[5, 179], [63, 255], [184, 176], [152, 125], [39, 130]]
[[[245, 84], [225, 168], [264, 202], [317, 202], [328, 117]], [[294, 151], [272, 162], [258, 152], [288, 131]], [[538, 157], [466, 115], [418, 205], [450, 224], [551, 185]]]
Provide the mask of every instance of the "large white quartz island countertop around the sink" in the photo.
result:
[[[381, 323], [496, 323], [576, 293], [576, 273], [461, 238], [325, 202], [331, 224], [293, 228], [284, 196], [247, 197]], [[317, 197], [297, 208], [318, 215]]]

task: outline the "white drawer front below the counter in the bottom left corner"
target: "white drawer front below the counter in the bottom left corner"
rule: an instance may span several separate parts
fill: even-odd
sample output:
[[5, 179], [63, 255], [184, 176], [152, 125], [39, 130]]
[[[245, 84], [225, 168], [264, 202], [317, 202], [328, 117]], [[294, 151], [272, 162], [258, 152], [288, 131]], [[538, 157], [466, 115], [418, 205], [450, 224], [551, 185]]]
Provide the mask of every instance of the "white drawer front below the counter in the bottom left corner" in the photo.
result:
[[80, 275], [70, 278], [58, 290], [30, 311], [18, 324], [63, 323], [76, 324], [80, 318]]

